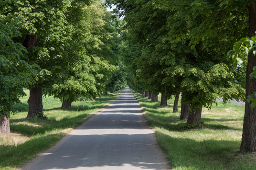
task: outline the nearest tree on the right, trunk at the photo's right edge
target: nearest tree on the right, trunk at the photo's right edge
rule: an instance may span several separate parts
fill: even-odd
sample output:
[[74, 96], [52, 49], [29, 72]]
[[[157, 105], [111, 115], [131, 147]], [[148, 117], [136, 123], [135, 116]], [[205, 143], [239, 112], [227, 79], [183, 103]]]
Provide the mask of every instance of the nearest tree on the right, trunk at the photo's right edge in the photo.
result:
[[[163, 1], [162, 1], [163, 2]], [[256, 5], [255, 1], [251, 0], [223, 0], [223, 1], [183, 1], [179, 5], [179, 1], [174, 2], [173, 9], [182, 9], [179, 12], [182, 15], [176, 17], [178, 22], [171, 23], [172, 34], [176, 35], [177, 39], [181, 39], [186, 35], [184, 32], [189, 29], [188, 37], [190, 44], [195, 47], [200, 42], [203, 46], [209, 48], [213, 47], [220, 53], [226, 53], [228, 49], [231, 49], [233, 43], [246, 34], [249, 37], [255, 35], [256, 31]], [[170, 2], [165, 1], [166, 5], [170, 5]], [[175, 6], [175, 8], [174, 8]], [[182, 8], [183, 7], [183, 8]], [[179, 18], [180, 17], [180, 18]], [[182, 25], [181, 22], [186, 20], [187, 25]], [[247, 26], [247, 23], [249, 25]], [[182, 29], [178, 29], [179, 28]], [[222, 44], [222, 45], [220, 45]], [[256, 58], [253, 52], [250, 52], [247, 57], [247, 71], [246, 71], [246, 86], [245, 86], [245, 98], [256, 91], [256, 80], [250, 79], [250, 74], [253, 72], [253, 67], [256, 65]], [[256, 109], [251, 108], [251, 101], [245, 101], [245, 117], [243, 126], [242, 143], [240, 152], [256, 151], [256, 138], [255, 127]]]

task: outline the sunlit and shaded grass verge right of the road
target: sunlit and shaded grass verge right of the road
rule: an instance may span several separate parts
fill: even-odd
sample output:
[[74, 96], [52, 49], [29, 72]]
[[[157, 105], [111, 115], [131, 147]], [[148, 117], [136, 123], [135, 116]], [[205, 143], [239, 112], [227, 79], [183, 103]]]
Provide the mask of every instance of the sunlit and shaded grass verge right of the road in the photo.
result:
[[[174, 170], [256, 170], [256, 155], [239, 154], [242, 137], [244, 105], [232, 102], [203, 108], [202, 121], [208, 128], [182, 130], [186, 120], [172, 113], [174, 98], [168, 107], [151, 102], [132, 91], [143, 107], [149, 125], [155, 130], [160, 147], [165, 150]], [[159, 95], [160, 97], [160, 95]], [[159, 99], [160, 100], [160, 99]]]

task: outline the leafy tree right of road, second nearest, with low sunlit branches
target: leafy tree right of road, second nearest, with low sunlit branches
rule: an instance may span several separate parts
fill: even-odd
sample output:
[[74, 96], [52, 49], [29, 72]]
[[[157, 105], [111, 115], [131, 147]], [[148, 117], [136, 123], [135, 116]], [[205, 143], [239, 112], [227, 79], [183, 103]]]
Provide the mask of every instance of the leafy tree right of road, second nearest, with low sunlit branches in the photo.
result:
[[[241, 26], [241, 21], [245, 18], [240, 15], [243, 10], [231, 11], [232, 19], [218, 20], [223, 15], [229, 15], [226, 10], [220, 10], [219, 7], [224, 6], [220, 1], [159, 0], [159, 3], [162, 8], [171, 11], [167, 21], [169, 40], [172, 43], [182, 43], [183, 47], [192, 47], [184, 53], [185, 64], [171, 70], [175, 77], [181, 77], [181, 103], [188, 103], [192, 113], [201, 115], [200, 108], [206, 106], [210, 109], [218, 97], [224, 100], [244, 100], [243, 81], [234, 76], [237, 70], [223, 57], [224, 51], [230, 46], [230, 40], [234, 40], [234, 35], [245, 30], [243, 26], [240, 30], [233, 29]], [[237, 1], [234, 3], [240, 4]], [[228, 35], [229, 39], [223, 34]], [[213, 74], [214, 70], [217, 74]], [[237, 95], [232, 95], [232, 92]], [[200, 116], [194, 115], [191, 119], [196, 121], [188, 120], [188, 124], [201, 122]]]

